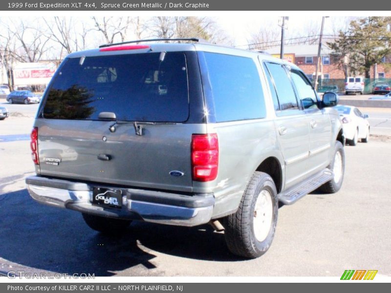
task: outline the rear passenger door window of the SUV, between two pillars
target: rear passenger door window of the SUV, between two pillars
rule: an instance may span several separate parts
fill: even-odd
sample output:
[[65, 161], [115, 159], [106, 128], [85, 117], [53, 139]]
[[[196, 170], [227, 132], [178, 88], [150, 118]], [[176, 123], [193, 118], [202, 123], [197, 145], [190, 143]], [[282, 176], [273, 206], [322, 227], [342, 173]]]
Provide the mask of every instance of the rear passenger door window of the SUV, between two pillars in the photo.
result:
[[276, 86], [278, 101], [280, 103], [280, 110], [298, 109], [299, 105], [296, 100], [295, 91], [293, 90], [291, 81], [282, 64], [265, 63], [269, 69], [270, 75], [273, 78]]

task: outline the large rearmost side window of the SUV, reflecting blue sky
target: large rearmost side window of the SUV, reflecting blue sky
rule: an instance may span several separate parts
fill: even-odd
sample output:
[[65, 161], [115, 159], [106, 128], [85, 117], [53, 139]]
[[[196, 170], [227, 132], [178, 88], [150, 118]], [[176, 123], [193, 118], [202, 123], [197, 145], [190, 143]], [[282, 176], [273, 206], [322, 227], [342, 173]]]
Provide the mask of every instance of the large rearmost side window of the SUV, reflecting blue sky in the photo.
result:
[[217, 122], [266, 116], [258, 68], [253, 59], [204, 52]]

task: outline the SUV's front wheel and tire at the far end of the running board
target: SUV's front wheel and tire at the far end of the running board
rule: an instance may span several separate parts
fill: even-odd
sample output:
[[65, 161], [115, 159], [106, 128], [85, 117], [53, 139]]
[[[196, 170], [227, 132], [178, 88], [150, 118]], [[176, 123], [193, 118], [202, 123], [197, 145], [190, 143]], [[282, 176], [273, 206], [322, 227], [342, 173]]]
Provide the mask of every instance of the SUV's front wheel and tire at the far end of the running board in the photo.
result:
[[345, 151], [339, 141], [335, 142], [333, 160], [328, 168], [334, 172], [334, 177], [322, 185], [319, 190], [324, 193], [335, 193], [341, 189], [345, 174]]

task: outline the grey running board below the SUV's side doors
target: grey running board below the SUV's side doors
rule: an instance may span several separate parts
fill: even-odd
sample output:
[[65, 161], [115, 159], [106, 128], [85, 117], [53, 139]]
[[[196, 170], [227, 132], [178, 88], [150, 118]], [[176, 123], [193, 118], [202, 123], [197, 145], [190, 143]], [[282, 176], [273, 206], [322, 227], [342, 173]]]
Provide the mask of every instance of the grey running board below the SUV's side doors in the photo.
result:
[[291, 205], [301, 199], [304, 195], [308, 194], [311, 191], [314, 191], [316, 188], [325, 184], [327, 181], [333, 179], [334, 173], [326, 168], [312, 175], [304, 182], [301, 182], [299, 185], [295, 185], [278, 195], [279, 201], [284, 205]]

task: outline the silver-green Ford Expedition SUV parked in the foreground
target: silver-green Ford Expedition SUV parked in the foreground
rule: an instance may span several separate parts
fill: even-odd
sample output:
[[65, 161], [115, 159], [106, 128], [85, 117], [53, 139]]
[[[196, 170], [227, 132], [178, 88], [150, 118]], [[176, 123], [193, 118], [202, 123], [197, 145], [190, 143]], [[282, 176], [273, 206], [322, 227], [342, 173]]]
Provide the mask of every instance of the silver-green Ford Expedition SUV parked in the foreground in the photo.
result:
[[27, 187], [98, 231], [211, 223], [230, 251], [258, 257], [279, 201], [340, 189], [345, 140], [327, 108], [337, 103], [257, 52], [127, 42], [72, 53], [39, 107]]

